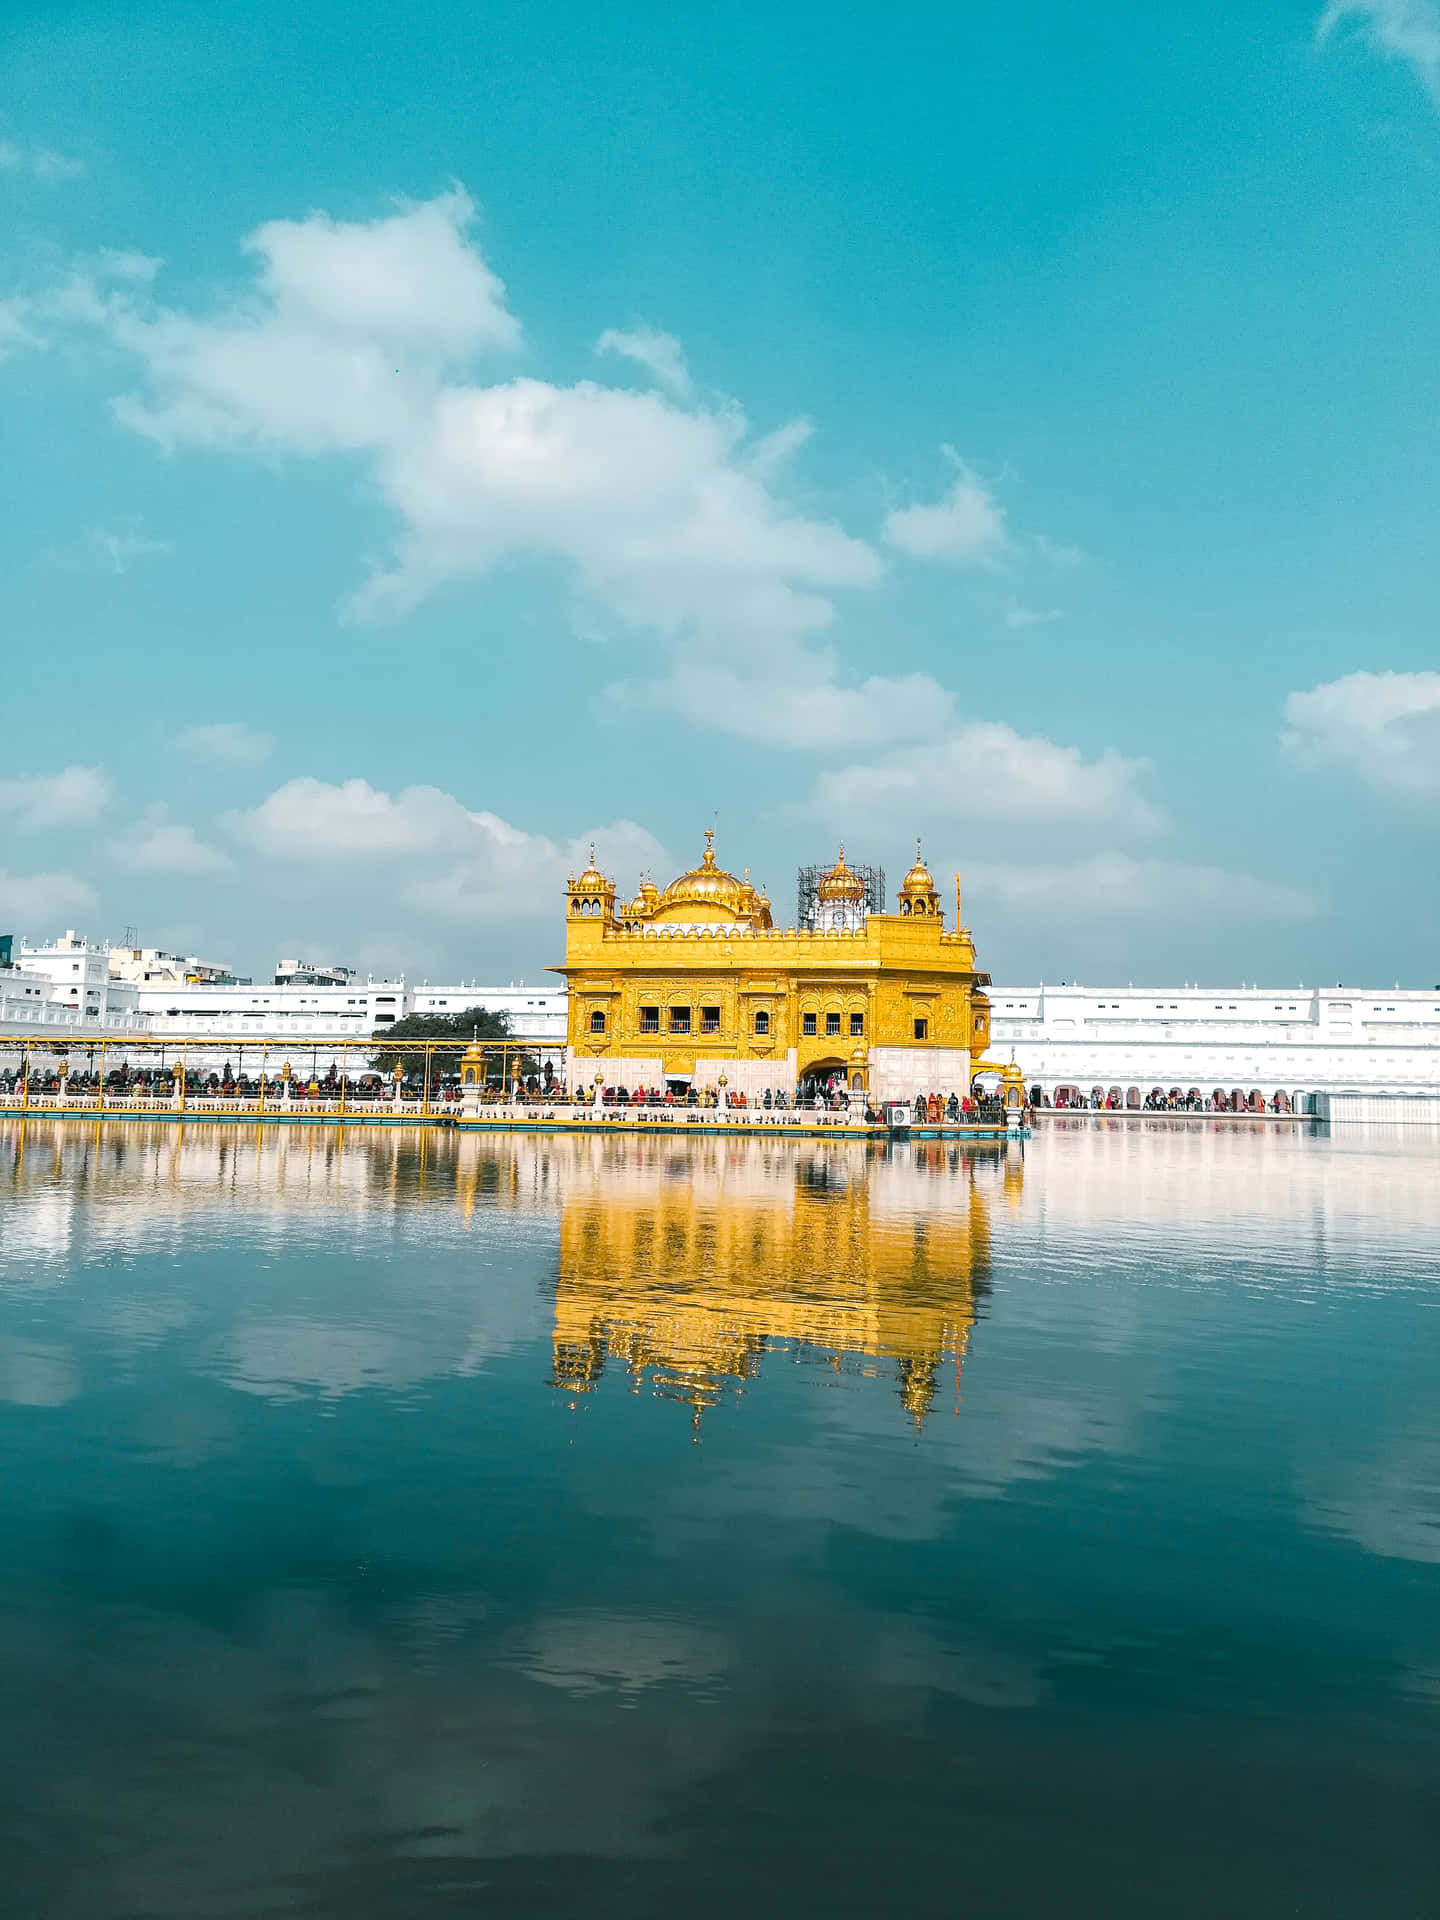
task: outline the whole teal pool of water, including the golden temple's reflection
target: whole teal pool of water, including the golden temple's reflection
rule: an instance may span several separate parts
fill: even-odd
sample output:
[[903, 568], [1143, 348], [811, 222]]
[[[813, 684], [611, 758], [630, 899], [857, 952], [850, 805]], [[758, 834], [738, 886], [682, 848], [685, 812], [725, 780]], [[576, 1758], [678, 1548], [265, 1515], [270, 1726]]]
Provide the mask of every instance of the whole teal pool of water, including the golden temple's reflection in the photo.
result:
[[0, 1908], [1440, 1912], [1438, 1175], [0, 1131]]

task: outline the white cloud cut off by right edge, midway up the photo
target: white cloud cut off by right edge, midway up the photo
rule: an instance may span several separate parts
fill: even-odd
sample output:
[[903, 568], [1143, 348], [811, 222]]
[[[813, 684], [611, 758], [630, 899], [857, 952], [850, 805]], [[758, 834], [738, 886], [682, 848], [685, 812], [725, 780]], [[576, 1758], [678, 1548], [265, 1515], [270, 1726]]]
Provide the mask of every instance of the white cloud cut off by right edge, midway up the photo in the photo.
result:
[[1377, 793], [1440, 797], [1440, 674], [1346, 674], [1284, 701], [1281, 747]]

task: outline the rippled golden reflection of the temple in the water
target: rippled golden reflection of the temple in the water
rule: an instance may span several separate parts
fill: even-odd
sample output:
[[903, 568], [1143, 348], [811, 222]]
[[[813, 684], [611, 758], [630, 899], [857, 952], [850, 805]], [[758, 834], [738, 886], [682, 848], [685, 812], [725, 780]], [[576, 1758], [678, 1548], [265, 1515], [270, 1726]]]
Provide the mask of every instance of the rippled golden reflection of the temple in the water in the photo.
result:
[[[611, 1142], [605, 1142], [611, 1144]], [[975, 1181], [983, 1148], [937, 1144], [893, 1160], [858, 1142], [797, 1152], [737, 1140], [712, 1152], [664, 1142], [570, 1167], [561, 1204], [553, 1382], [589, 1392], [607, 1361], [636, 1386], [693, 1407], [743, 1392], [776, 1344], [820, 1350], [839, 1371], [895, 1367], [922, 1425], [939, 1369], [960, 1365], [987, 1290], [991, 1219]], [[998, 1150], [989, 1150], [995, 1171]], [[1020, 1154], [1004, 1162], [1020, 1179]]]

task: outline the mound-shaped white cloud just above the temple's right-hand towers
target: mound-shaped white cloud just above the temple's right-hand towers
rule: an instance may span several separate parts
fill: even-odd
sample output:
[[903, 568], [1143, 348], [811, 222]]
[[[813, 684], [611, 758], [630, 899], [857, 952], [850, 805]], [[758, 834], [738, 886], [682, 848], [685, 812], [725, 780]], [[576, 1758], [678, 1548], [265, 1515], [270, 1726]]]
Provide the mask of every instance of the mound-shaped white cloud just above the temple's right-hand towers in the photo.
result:
[[879, 760], [824, 772], [810, 810], [835, 822], [1075, 822], [1148, 835], [1167, 826], [1146, 793], [1148, 770], [1110, 749], [1087, 760], [1079, 747], [972, 720]]

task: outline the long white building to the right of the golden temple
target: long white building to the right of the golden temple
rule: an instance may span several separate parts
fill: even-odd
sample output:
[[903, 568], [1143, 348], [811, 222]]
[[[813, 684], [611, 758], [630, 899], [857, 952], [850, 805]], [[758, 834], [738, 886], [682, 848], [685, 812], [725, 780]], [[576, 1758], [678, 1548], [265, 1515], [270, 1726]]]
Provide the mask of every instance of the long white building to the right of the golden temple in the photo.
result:
[[991, 1058], [1052, 1100], [1137, 1089], [1432, 1092], [1440, 989], [991, 987]]

